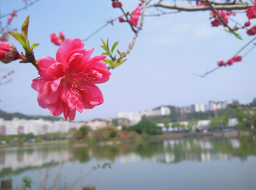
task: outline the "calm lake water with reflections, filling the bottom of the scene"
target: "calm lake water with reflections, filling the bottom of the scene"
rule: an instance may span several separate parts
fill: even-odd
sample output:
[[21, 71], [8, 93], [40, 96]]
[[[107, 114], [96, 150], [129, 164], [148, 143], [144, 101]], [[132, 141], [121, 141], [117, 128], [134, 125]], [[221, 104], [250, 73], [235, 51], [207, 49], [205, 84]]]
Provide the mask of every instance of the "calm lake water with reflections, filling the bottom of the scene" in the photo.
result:
[[32, 189], [93, 185], [97, 190], [252, 190], [256, 189], [255, 155], [255, 137], [93, 148], [4, 148], [0, 150], [0, 178], [12, 178], [14, 189], [22, 184], [22, 177], [29, 176]]

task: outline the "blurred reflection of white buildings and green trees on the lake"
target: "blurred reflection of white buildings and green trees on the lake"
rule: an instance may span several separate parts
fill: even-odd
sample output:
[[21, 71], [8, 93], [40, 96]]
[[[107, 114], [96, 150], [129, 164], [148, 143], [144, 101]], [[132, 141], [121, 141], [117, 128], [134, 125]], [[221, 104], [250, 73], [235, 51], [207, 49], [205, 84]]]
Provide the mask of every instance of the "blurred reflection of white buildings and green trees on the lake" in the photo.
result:
[[0, 150], [0, 177], [20, 173], [31, 168], [45, 167], [63, 161], [88, 162], [90, 159], [121, 163], [152, 161], [174, 164], [182, 161], [241, 161], [255, 156], [256, 141], [251, 138], [175, 139], [140, 145], [92, 146], [70, 148], [65, 146], [33, 146]]

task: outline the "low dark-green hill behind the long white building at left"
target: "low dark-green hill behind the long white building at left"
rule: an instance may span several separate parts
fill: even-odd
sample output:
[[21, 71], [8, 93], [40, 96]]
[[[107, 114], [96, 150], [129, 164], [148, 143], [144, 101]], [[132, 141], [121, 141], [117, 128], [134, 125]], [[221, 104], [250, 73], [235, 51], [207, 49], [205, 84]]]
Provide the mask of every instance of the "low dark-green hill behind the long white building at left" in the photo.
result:
[[26, 120], [37, 120], [39, 118], [42, 118], [44, 120], [50, 120], [50, 121], [61, 120], [60, 117], [56, 117], [56, 116], [30, 116], [30, 115], [24, 115], [22, 113], [7, 113], [1, 109], [0, 109], [0, 118], [4, 118], [4, 120], [12, 120], [13, 118], [20, 118], [20, 119], [26, 119]]

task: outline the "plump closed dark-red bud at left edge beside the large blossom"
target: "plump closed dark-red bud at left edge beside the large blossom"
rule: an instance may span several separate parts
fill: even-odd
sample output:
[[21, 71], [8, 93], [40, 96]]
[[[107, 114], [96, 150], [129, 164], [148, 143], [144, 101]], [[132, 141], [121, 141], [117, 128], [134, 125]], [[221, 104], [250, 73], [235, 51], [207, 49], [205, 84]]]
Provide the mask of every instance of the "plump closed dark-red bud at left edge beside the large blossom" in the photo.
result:
[[22, 56], [13, 44], [0, 43], [0, 61], [3, 63], [10, 63], [17, 59], [22, 59]]

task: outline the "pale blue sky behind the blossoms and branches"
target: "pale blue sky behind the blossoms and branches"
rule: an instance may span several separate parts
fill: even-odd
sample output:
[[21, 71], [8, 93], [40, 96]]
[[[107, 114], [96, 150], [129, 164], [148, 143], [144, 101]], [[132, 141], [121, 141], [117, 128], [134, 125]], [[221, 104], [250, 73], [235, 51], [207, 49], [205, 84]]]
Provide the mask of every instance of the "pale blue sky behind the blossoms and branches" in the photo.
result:
[[[122, 2], [124, 9], [130, 12], [138, 6], [137, 0]], [[23, 5], [21, 0], [2, 0], [0, 11], [1, 14], [9, 13]], [[120, 14], [118, 9], [112, 8], [110, 0], [41, 0], [19, 12], [12, 26], [20, 29], [30, 15], [29, 42], [40, 43], [35, 49], [36, 58], [55, 58], [58, 47], [51, 44], [51, 33], [63, 31], [69, 38], [83, 39], [106, 20]], [[246, 20], [242, 14], [235, 18], [240, 22]], [[160, 105], [188, 106], [207, 103], [208, 100], [251, 102], [256, 97], [255, 50], [241, 63], [220, 68], [205, 78], [192, 75], [204, 74], [216, 67], [216, 61], [231, 58], [251, 39], [245, 31], [239, 33], [243, 40], [223, 31], [223, 27], [212, 28], [209, 12], [146, 17], [128, 60], [110, 70], [112, 75], [107, 83], [99, 84], [104, 104], [84, 109], [82, 114], [77, 112], [76, 120], [113, 118], [119, 111], [138, 112]], [[103, 52], [100, 38], [109, 38], [110, 44], [119, 41], [118, 49], [125, 51], [132, 36], [133, 32], [126, 23], [115, 22], [114, 26], [107, 26], [85, 42], [84, 47], [88, 50], [94, 47], [93, 56], [99, 55]], [[10, 38], [10, 43], [22, 51], [14, 39]], [[0, 75], [10, 70], [15, 71], [12, 83], [0, 86], [0, 109], [28, 115], [50, 115], [47, 109], [38, 106], [37, 92], [31, 88], [31, 81], [38, 77], [35, 68], [19, 61], [0, 64]]]

